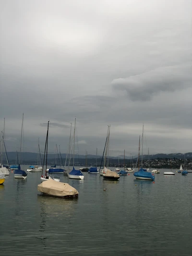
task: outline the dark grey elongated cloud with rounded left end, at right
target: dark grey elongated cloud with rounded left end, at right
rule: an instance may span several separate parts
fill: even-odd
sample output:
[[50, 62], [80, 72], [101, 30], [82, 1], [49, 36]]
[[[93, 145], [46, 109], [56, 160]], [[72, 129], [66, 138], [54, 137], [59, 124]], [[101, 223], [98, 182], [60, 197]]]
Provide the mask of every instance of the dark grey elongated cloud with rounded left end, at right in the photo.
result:
[[116, 90], [126, 91], [132, 101], [147, 101], [159, 92], [174, 92], [190, 87], [192, 83], [192, 63], [160, 67], [155, 70], [118, 78], [112, 81]]

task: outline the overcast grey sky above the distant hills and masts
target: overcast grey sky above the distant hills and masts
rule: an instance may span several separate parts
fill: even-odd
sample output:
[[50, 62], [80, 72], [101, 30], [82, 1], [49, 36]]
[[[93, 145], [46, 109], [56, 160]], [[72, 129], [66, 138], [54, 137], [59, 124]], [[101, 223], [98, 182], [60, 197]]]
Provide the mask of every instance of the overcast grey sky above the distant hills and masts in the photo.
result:
[[[192, 152], [191, 0], [0, 0], [0, 129], [8, 151]], [[77, 152], [77, 147], [76, 147]]]

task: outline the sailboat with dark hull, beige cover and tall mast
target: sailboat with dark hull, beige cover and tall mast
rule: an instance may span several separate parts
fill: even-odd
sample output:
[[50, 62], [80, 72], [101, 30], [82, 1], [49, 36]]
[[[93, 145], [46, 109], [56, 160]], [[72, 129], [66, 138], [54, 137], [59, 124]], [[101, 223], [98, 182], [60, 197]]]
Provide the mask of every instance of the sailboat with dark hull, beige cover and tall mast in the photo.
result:
[[[108, 168], [105, 167], [105, 165], [107, 163], [106, 161], [106, 158], [107, 158], [107, 154], [108, 154], [108, 151], [109, 151], [109, 135], [110, 135], [110, 125], [108, 126], [108, 136], [107, 136], [107, 147], [106, 147], [106, 151], [105, 151], [105, 158], [104, 158], [104, 168], [103, 168], [103, 179], [104, 180], [112, 180], [112, 181], [117, 181], [119, 180], [120, 178], [120, 175], [117, 174], [117, 172], [115, 171], [111, 171], [109, 170]], [[106, 171], [107, 169], [107, 171]]]

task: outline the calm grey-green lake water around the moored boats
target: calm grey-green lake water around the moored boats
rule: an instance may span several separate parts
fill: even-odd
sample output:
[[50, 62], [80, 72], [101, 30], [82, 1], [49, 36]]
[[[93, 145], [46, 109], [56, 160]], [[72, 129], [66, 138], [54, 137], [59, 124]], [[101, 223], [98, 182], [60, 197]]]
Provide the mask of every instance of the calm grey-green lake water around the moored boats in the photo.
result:
[[79, 191], [76, 200], [40, 195], [40, 172], [10, 173], [0, 186], [0, 256], [191, 256], [192, 173], [160, 171], [155, 183], [133, 173], [118, 182], [56, 174]]

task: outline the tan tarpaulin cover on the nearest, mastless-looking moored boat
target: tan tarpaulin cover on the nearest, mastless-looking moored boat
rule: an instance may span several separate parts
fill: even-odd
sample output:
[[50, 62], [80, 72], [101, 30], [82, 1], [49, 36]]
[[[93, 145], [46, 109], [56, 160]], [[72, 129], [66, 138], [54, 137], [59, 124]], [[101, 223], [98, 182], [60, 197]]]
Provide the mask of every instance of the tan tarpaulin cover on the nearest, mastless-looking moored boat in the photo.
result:
[[70, 186], [68, 183], [56, 182], [52, 179], [44, 181], [37, 186], [39, 192], [55, 195], [55, 196], [66, 196], [66, 195], [76, 195], [79, 192]]

